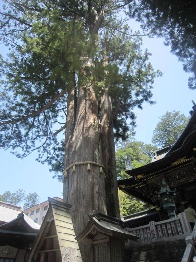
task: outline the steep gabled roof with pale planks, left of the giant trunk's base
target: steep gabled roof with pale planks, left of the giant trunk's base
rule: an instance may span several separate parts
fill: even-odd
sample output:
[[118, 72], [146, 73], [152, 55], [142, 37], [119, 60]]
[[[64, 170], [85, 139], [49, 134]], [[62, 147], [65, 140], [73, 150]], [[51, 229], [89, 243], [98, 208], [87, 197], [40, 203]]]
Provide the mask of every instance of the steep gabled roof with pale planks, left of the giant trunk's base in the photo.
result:
[[[34, 261], [40, 253], [54, 251], [58, 262], [69, 253], [70, 261], [82, 261], [69, 209], [71, 205], [48, 198], [49, 208], [34, 242], [28, 261]], [[53, 241], [52, 248], [47, 249], [47, 239]], [[73, 259], [73, 260], [72, 260]], [[65, 261], [65, 260], [63, 260]]]

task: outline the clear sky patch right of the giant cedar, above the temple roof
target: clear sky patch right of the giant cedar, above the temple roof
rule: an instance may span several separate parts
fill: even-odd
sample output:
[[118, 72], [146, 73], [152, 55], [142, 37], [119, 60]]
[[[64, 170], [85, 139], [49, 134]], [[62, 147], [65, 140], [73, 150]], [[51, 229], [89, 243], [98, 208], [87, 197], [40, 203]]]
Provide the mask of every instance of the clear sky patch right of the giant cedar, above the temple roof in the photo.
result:
[[191, 100], [196, 103], [196, 91], [188, 89], [190, 75], [183, 71], [182, 63], [163, 41], [161, 38], [143, 40], [144, 46], [152, 53], [150, 62], [163, 73], [154, 81], [153, 101], [156, 104], [145, 103], [143, 110], [135, 110], [138, 125], [135, 138], [145, 143], [151, 143], [153, 130], [166, 111], [180, 111], [189, 116], [193, 106]]

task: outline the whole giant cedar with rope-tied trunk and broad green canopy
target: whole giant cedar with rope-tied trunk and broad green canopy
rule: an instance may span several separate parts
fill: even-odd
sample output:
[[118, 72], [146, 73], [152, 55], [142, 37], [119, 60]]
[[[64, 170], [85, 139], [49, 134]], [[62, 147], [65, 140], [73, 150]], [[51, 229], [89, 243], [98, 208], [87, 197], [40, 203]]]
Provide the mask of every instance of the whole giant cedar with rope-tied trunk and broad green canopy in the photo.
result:
[[[122, 18], [125, 1], [6, 0], [0, 6], [0, 147], [67, 169], [64, 201], [76, 235], [98, 210], [119, 217], [114, 138], [159, 75]], [[121, 13], [119, 13], [121, 12]], [[65, 129], [65, 141], [57, 134]], [[115, 131], [115, 132], [114, 132]], [[65, 150], [64, 164], [62, 156]], [[87, 170], [88, 161], [91, 164]], [[103, 165], [103, 173], [100, 166]], [[91, 261], [80, 245], [83, 261]]]

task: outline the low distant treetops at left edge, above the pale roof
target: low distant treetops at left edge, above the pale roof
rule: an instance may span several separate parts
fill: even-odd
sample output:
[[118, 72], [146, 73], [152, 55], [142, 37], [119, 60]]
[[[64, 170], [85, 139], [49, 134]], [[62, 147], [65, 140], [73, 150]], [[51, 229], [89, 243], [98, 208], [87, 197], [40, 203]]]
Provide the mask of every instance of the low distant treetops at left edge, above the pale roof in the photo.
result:
[[15, 193], [5, 191], [2, 195], [0, 195], [0, 201], [4, 201], [15, 205], [21, 202], [25, 203], [24, 209], [38, 204], [39, 199], [40, 197], [37, 193], [26, 194], [23, 189], [18, 189]]

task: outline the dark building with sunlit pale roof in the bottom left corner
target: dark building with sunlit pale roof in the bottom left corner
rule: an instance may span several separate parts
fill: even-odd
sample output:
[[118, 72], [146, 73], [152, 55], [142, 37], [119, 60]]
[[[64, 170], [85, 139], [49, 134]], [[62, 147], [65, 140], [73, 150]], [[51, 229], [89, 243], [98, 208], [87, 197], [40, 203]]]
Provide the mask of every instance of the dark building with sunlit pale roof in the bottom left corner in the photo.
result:
[[0, 201], [0, 262], [27, 262], [39, 228], [20, 207]]

